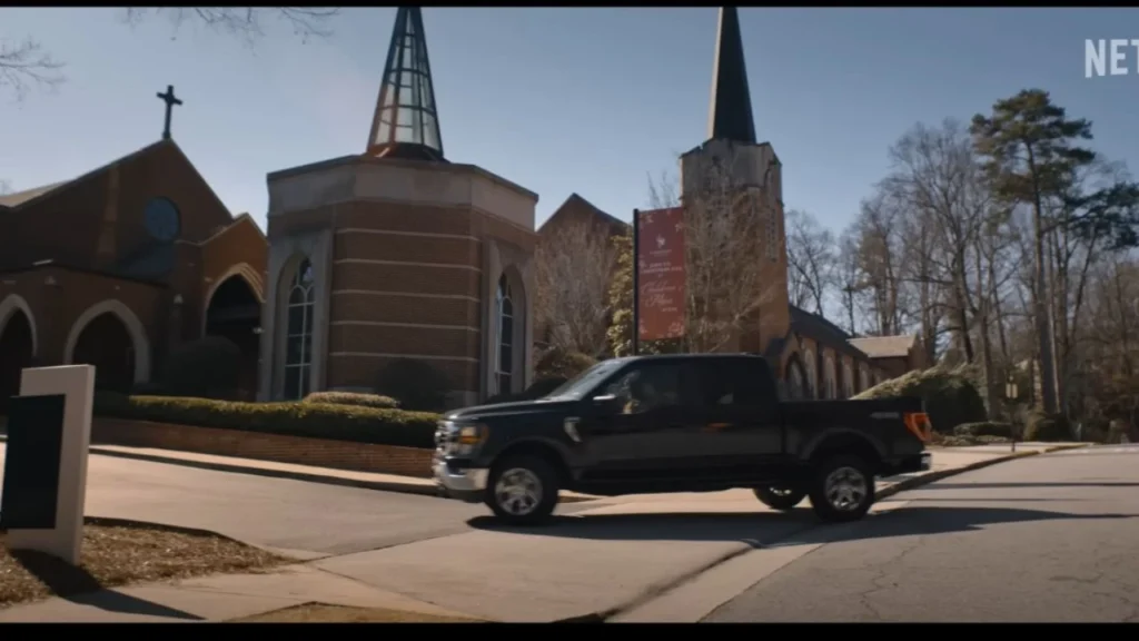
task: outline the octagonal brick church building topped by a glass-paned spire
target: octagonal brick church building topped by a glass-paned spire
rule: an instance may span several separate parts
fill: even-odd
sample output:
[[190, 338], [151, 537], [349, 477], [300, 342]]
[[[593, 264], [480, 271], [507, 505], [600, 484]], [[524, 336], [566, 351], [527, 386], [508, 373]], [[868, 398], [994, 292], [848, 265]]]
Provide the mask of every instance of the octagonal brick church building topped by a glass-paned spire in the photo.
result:
[[444, 154], [419, 8], [396, 11], [364, 153], [268, 184], [260, 398], [370, 391], [404, 358], [451, 406], [525, 389], [538, 195]]

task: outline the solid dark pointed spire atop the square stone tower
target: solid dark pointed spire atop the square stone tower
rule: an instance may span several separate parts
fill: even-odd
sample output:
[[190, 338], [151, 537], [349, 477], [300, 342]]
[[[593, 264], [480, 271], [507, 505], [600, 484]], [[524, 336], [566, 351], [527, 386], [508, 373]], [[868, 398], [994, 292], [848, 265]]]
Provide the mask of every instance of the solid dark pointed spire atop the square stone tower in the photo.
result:
[[720, 8], [708, 139], [756, 143], [752, 94], [747, 89], [747, 67], [744, 64], [744, 39], [739, 34], [739, 14], [735, 7]]

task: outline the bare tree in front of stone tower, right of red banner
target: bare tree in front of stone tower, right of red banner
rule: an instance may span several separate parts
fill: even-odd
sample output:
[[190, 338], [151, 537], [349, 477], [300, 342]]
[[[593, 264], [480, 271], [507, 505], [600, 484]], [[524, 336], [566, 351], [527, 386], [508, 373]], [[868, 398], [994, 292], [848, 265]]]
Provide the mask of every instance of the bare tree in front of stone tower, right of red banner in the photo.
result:
[[699, 188], [685, 193], [689, 351], [716, 351], [738, 340], [773, 293], [765, 267], [769, 252], [780, 248], [764, 242], [778, 214], [771, 168], [760, 185], [744, 187], [735, 179], [736, 160], [711, 159]]

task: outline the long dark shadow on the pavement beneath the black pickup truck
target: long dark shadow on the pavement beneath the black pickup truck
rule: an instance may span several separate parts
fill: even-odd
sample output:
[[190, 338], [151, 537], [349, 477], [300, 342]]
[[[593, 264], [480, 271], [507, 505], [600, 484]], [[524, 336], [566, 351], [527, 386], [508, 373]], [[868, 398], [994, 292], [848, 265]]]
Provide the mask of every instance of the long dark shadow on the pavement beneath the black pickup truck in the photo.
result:
[[[554, 519], [549, 525], [513, 528], [491, 525], [487, 517], [467, 521], [472, 527], [565, 538], [598, 541], [696, 541], [743, 542], [761, 547], [811, 530], [820, 542], [858, 541], [893, 536], [949, 534], [977, 530], [998, 524], [1044, 520], [1107, 520], [1136, 518], [1130, 514], [1071, 514], [988, 506], [907, 506], [862, 521], [822, 525], [809, 510], [779, 513], [653, 513], [588, 514]], [[776, 527], [773, 527], [776, 526]], [[778, 527], [782, 526], [782, 527]], [[804, 541], [806, 543], [806, 541]]]

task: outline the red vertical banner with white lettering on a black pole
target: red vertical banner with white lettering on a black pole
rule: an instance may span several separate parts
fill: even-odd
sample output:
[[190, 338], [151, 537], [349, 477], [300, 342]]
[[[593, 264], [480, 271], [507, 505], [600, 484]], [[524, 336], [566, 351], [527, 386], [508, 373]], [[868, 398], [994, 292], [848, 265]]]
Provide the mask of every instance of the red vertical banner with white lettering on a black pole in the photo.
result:
[[683, 210], [672, 208], [642, 211], [638, 233], [638, 335], [642, 341], [683, 336]]

